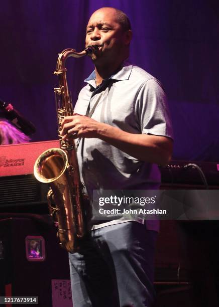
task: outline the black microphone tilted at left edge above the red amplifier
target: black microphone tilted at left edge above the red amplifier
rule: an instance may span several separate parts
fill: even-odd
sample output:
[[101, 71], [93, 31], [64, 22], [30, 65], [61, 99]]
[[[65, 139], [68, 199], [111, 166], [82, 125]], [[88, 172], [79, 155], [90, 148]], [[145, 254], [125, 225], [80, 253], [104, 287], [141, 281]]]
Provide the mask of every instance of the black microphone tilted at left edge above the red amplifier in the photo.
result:
[[26, 135], [36, 132], [35, 125], [16, 110], [11, 103], [0, 99], [0, 110], [3, 110], [6, 119], [11, 120]]

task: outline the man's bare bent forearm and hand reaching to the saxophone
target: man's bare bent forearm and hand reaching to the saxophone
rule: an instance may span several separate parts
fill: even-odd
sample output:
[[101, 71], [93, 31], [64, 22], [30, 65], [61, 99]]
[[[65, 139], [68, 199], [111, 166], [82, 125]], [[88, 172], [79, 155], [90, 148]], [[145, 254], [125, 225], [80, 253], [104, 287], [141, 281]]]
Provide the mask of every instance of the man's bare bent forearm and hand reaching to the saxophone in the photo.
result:
[[65, 117], [61, 126], [64, 139], [96, 137], [140, 161], [158, 165], [165, 165], [171, 159], [173, 142], [166, 136], [129, 133], [78, 114]]

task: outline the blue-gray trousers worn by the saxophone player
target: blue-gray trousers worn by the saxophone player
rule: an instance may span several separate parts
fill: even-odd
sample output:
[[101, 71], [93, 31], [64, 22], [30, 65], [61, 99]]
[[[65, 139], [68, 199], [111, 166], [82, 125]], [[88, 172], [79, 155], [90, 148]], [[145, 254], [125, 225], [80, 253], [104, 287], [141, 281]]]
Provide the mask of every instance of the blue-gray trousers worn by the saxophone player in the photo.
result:
[[151, 306], [156, 236], [133, 221], [92, 230], [69, 253], [73, 306]]

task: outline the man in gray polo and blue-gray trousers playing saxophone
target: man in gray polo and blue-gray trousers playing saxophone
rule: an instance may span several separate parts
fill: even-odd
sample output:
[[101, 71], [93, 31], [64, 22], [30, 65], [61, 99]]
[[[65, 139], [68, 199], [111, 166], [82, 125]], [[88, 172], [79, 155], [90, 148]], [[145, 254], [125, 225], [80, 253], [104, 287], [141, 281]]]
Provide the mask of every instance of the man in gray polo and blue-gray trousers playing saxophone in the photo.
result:
[[[85, 80], [73, 116], [61, 123], [63, 139], [77, 139], [81, 181], [93, 190], [158, 189], [157, 165], [172, 153], [165, 93], [153, 76], [127, 62], [128, 17], [114, 8], [95, 11], [86, 47], [94, 72]], [[92, 221], [93, 229], [69, 253], [74, 307], [151, 306], [157, 221]]]

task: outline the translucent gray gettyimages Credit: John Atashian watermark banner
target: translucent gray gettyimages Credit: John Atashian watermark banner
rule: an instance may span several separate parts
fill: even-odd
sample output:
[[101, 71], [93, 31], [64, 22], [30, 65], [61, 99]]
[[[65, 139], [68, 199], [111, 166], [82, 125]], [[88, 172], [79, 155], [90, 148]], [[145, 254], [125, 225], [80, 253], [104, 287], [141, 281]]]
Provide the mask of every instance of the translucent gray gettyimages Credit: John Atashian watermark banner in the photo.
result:
[[94, 190], [93, 219], [218, 220], [219, 190]]

